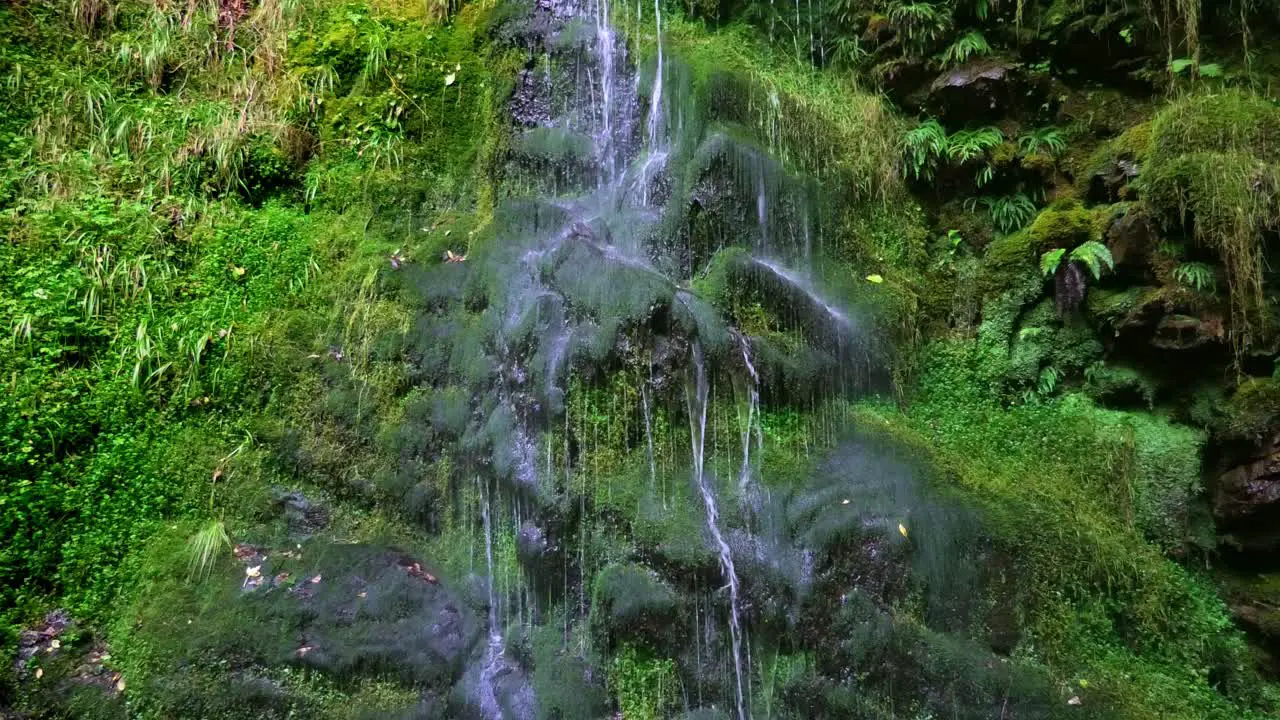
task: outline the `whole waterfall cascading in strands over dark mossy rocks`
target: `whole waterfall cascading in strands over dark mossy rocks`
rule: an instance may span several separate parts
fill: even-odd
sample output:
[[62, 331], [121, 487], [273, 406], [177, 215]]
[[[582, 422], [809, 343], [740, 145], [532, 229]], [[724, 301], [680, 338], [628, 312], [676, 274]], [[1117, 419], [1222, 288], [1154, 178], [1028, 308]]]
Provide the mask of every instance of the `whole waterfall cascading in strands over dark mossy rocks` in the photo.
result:
[[[730, 680], [712, 691], [710, 702], [732, 703], [737, 720], [746, 720], [753, 667], [735, 553], [742, 533], [750, 539], [760, 532], [755, 518], [768, 497], [759, 470], [765, 450], [762, 395], [765, 378], [778, 377], [780, 370], [760, 370], [753, 338], [735, 329], [699, 282], [719, 266], [716, 272], [728, 273], [727, 284], [755, 292], [795, 332], [812, 334], [827, 356], [804, 360], [805, 366], [819, 368], [815, 372], [861, 370], [864, 364], [849, 361], [849, 350], [864, 338], [836, 301], [788, 266], [810, 265], [808, 186], [791, 183], [767, 150], [708, 123], [708, 110], [698, 108], [690, 95], [687, 70], [664, 45], [660, 3], [654, 3], [650, 26], [657, 32], [652, 77], [637, 72], [628, 55], [630, 33], [614, 28], [608, 0], [586, 5], [548, 0], [532, 13], [529, 27], [538, 32], [521, 36], [530, 64], [512, 100], [518, 126], [513, 174], [526, 173], [520, 177], [532, 192], [517, 193], [499, 208], [497, 237], [463, 268], [483, 283], [483, 314], [438, 320], [443, 323], [438, 333], [453, 343], [453, 372], [466, 379], [474, 396], [472, 420], [460, 445], [471, 454], [472, 466], [490, 478], [484, 492], [477, 486], [489, 571], [489, 642], [475, 675], [479, 697], [474, 702], [486, 719], [512, 716], [502, 705], [499, 685], [512, 675], [512, 657], [518, 653], [504, 652], [503, 638], [526, 624], [545, 623], [539, 607], [563, 612], [566, 647], [577, 619], [593, 616], [593, 577], [608, 562], [594, 543], [609, 530], [593, 514], [596, 503], [609, 502], [613, 486], [590, 464], [580, 462], [600, 429], [582, 429], [581, 411], [575, 410], [581, 401], [570, 397], [577, 384], [570, 378], [589, 379], [594, 368], [630, 354], [646, 357], [637, 363], [645, 373], [639, 377], [646, 379], [632, 396], [632, 411], [643, 414], [643, 424], [636, 418], [643, 447], [635, 450], [646, 455], [649, 498], [657, 501], [652, 506], [667, 512], [668, 498], [700, 501], [703, 551], [714, 557], [723, 583], [723, 591], [701, 606], [705, 615], [699, 619], [695, 665], [731, 667], [726, 670]], [[637, 24], [640, 15], [637, 5]], [[640, 37], [639, 28], [635, 37]], [[768, 92], [763, 100], [762, 123], [772, 145], [781, 136], [778, 99]], [[547, 173], [548, 168], [554, 172]], [[723, 247], [690, 237], [694, 213], [704, 208], [740, 223], [745, 232], [730, 243], [750, 249], [744, 259], [727, 261]], [[717, 264], [717, 255], [726, 261]], [[640, 347], [645, 351], [635, 352]], [[777, 351], [769, 357], [776, 364]], [[666, 471], [659, 471], [655, 425], [668, 433], [673, 427], [678, 386], [669, 380], [681, 366], [691, 483], [673, 487]], [[745, 404], [741, 465], [723, 474], [737, 480], [739, 505], [728, 512], [718, 497], [735, 488], [717, 487], [721, 474], [710, 466], [717, 450], [708, 428], [717, 402], [712, 378], [721, 374], [741, 387]], [[671, 466], [675, 446], [675, 438], [668, 439], [664, 468]], [[494, 511], [499, 506], [512, 509], [516, 528], [531, 525], [532, 536], [557, 541], [544, 542], [556, 547], [554, 582], [532, 577], [516, 587], [495, 582]], [[549, 523], [548, 529], [538, 523]], [[769, 542], [781, 547], [782, 541]], [[530, 575], [545, 573], [548, 565], [536, 568], [525, 565]], [[532, 585], [548, 597], [525, 600]], [[504, 597], [509, 592], [515, 597]], [[518, 626], [504, 626], [503, 609], [515, 610], [509, 620]], [[576, 641], [577, 652], [590, 651], [586, 634], [577, 634]], [[722, 653], [718, 660], [717, 653]], [[701, 705], [701, 679], [698, 688]]]

